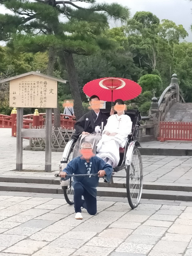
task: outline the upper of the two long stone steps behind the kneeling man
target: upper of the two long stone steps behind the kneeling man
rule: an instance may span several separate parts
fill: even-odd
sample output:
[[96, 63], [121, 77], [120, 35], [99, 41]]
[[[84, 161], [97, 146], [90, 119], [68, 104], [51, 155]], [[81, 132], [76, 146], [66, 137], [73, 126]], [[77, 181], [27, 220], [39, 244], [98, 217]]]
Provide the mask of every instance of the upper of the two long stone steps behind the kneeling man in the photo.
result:
[[[10, 182], [10, 183], [24, 183], [24, 184], [44, 184], [44, 185], [60, 185], [59, 178], [54, 177], [31, 177], [31, 176], [0, 176], [0, 182]], [[115, 180], [114, 176], [114, 183], [109, 184], [103, 182], [103, 179], [100, 179], [99, 182], [100, 187], [107, 187], [107, 188], [125, 188], [126, 183], [121, 180]], [[172, 190], [172, 191], [186, 191], [192, 192], [192, 185], [191, 184], [174, 184], [174, 183], [160, 183], [160, 182], [144, 182], [143, 184], [144, 189], [148, 190]]]

